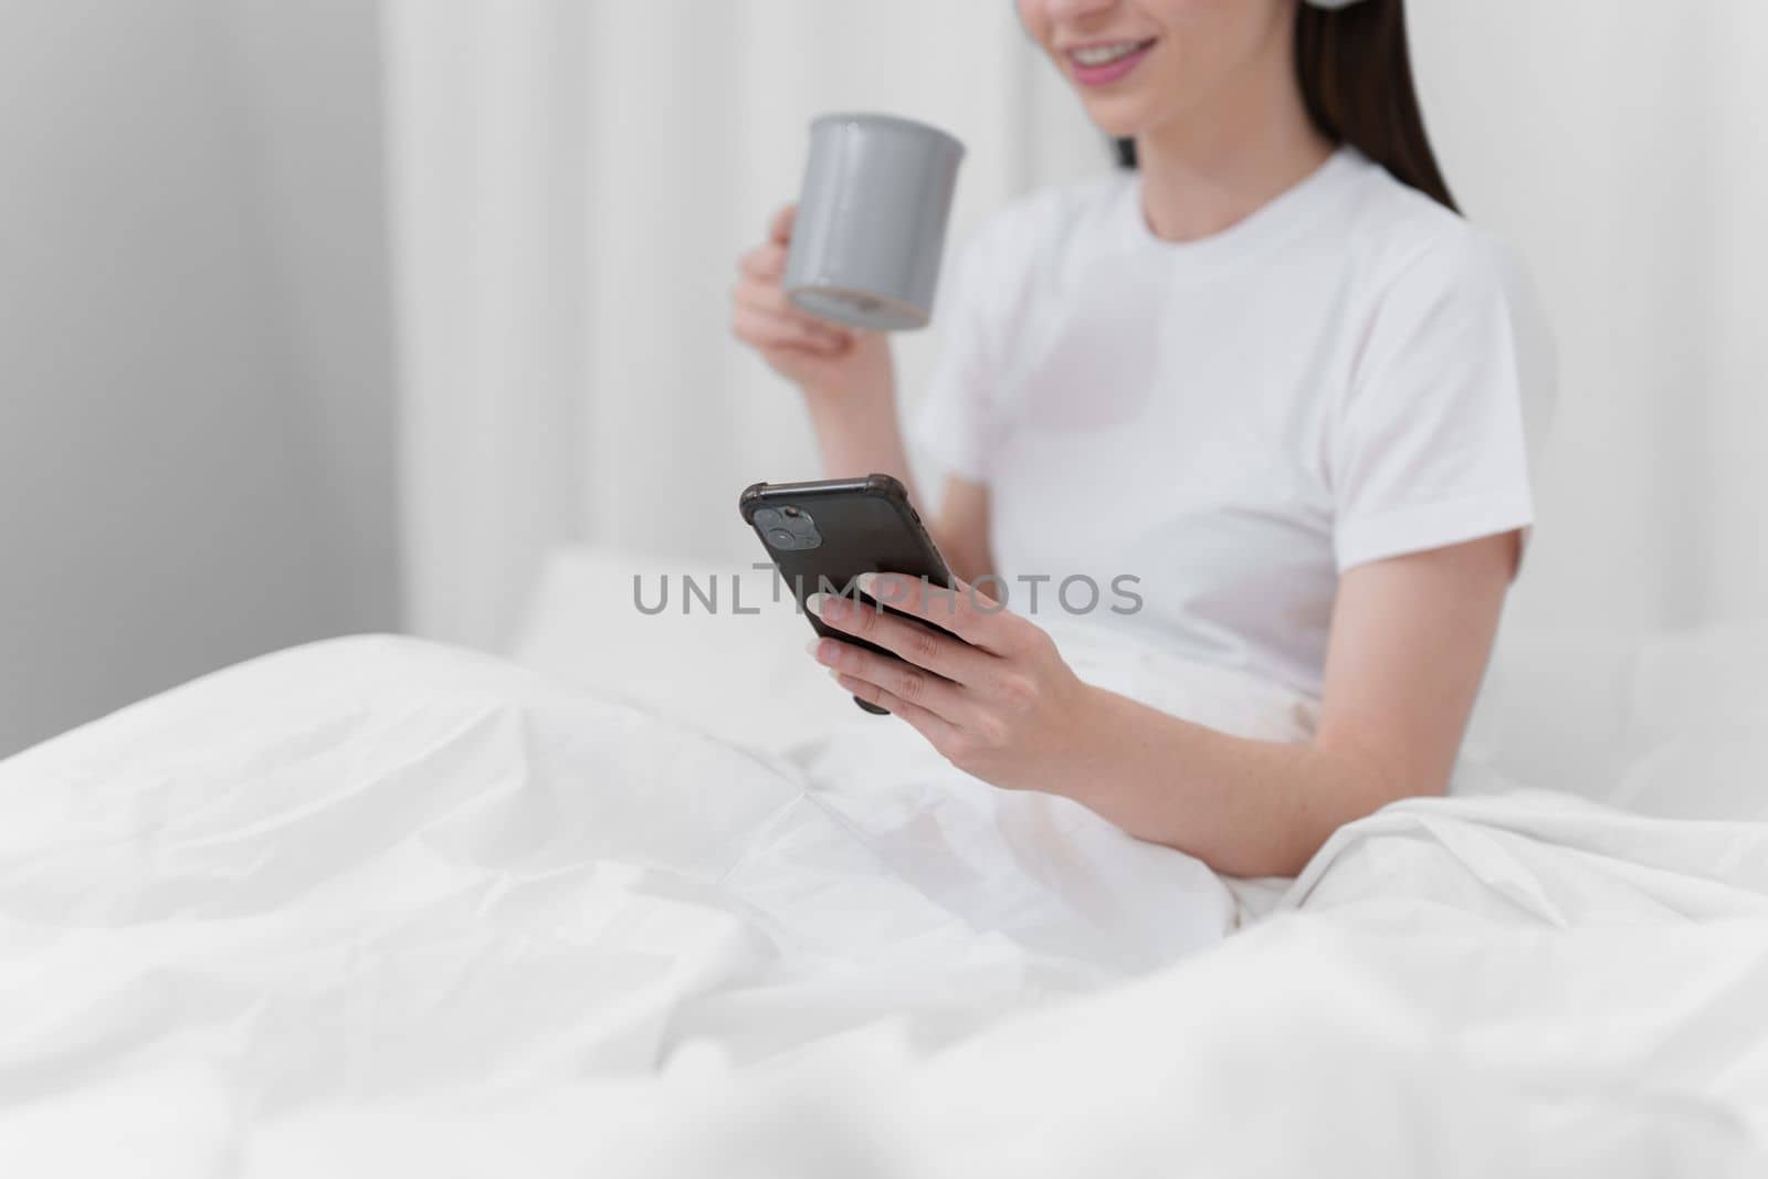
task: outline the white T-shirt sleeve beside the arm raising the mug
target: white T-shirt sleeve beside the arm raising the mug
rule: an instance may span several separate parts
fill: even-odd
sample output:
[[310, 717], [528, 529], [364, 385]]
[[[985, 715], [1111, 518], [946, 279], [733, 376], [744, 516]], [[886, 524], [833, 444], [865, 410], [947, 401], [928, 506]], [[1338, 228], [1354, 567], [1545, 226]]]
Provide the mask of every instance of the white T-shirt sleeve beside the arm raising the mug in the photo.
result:
[[944, 474], [974, 483], [988, 481], [988, 460], [997, 451], [997, 316], [990, 315], [990, 293], [999, 281], [990, 274], [985, 237], [971, 240], [955, 258], [935, 313], [939, 355], [909, 426], [921, 456]]

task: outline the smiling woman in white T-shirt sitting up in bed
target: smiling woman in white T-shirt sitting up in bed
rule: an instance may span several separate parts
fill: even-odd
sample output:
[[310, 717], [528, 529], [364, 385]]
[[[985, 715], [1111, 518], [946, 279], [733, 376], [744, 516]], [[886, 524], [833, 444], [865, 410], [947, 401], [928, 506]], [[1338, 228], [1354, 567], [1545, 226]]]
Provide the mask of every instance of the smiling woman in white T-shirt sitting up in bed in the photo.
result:
[[[1066, 794], [1218, 871], [1291, 875], [1326, 836], [1441, 794], [1531, 502], [1494, 247], [1425, 138], [1402, 0], [1018, 0], [1128, 168], [1008, 209], [944, 297], [918, 417], [953, 569], [1135, 573], [1139, 642], [1319, 700], [1250, 741], [1082, 682], [1015, 612], [956, 631], [843, 599], [840, 684], [958, 767]], [[741, 262], [734, 331], [803, 391], [831, 474], [907, 481], [889, 345], [781, 295], [792, 232]], [[949, 610], [949, 608], [948, 608]]]

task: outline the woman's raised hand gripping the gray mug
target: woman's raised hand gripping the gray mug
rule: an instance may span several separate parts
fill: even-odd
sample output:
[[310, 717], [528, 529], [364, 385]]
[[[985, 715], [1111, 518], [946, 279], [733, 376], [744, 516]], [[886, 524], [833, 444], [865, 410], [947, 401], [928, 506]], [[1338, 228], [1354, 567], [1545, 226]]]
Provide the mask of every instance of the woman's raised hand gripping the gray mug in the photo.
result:
[[781, 286], [796, 210], [780, 209], [767, 240], [737, 262], [730, 331], [812, 401], [889, 403], [895, 373], [886, 336], [820, 320], [799, 309]]

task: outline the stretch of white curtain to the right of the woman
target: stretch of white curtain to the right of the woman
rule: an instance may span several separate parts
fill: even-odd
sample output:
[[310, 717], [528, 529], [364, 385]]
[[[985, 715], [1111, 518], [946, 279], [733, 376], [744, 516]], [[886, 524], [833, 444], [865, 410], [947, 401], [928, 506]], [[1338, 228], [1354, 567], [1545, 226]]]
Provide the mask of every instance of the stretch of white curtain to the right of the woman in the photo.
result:
[[1517, 244], [1559, 414], [1517, 613], [1768, 617], [1768, 4], [1411, 0], [1430, 131]]

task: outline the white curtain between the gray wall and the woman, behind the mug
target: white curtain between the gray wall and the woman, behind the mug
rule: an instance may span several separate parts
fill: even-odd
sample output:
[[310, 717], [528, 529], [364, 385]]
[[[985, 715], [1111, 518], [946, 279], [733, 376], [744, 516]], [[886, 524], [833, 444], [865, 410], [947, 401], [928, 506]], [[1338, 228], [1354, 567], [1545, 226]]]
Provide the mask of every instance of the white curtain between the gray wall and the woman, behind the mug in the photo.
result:
[[[813, 115], [956, 133], [953, 242], [1107, 159], [1004, 0], [387, 0], [385, 19], [407, 622], [435, 638], [497, 645], [557, 541], [753, 560], [737, 491], [817, 477], [796, 396], [727, 327]], [[928, 350], [902, 338], [905, 389]]]

